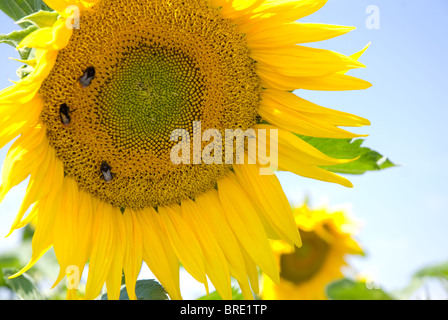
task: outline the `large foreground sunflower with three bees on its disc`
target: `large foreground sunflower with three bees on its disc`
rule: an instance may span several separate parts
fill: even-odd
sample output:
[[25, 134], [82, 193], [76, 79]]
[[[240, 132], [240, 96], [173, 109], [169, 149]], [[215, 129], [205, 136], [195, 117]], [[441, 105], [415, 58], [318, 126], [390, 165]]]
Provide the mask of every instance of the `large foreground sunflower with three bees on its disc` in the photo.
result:
[[[142, 262], [172, 299], [182, 298], [180, 264], [224, 299], [231, 278], [253, 298], [257, 268], [278, 282], [268, 239], [301, 240], [276, 176], [259, 173], [270, 170], [266, 162], [174, 164], [170, 135], [193, 135], [198, 122], [200, 133], [273, 129], [279, 170], [351, 187], [319, 168], [351, 160], [296, 134], [353, 138], [339, 127], [369, 121], [292, 91], [370, 86], [345, 75], [363, 67], [355, 58], [298, 45], [353, 28], [295, 22], [323, 0], [45, 2], [59, 18], [18, 46], [33, 48], [34, 69], [0, 92], [0, 147], [18, 136], [0, 200], [29, 176], [11, 232], [37, 221], [30, 262], [17, 275], [53, 248], [55, 285], [89, 262], [86, 299], [104, 284], [118, 298], [122, 272], [135, 299]], [[69, 287], [67, 297], [78, 296]]]

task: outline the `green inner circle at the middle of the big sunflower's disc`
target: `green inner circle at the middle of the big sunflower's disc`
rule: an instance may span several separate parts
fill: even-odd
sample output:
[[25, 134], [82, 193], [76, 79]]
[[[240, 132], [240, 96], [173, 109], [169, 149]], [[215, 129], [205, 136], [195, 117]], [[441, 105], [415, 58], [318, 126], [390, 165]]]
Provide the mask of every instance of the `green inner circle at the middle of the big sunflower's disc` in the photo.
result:
[[103, 124], [115, 145], [155, 150], [172, 146], [177, 128], [201, 120], [204, 81], [182, 52], [142, 46], [130, 51], [98, 95]]

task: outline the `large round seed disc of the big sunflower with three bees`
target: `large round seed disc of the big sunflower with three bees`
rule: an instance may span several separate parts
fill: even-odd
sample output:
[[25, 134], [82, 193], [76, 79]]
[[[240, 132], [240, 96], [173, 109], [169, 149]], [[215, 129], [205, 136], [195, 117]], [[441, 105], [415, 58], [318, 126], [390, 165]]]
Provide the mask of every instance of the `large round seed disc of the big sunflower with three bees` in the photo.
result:
[[171, 133], [250, 128], [259, 83], [244, 36], [208, 1], [103, 0], [58, 53], [41, 118], [80, 188], [119, 207], [170, 205], [230, 170], [173, 164]]

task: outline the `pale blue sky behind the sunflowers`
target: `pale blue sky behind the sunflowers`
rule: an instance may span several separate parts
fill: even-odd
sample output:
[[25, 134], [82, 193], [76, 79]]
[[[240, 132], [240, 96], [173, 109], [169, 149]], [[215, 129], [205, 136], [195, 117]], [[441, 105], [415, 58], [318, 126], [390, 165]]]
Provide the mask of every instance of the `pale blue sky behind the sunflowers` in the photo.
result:
[[[369, 29], [366, 9], [379, 9], [379, 29]], [[386, 290], [403, 288], [412, 274], [430, 264], [448, 261], [448, 1], [329, 0], [302, 21], [355, 26], [336, 39], [311, 46], [352, 54], [368, 42], [360, 59], [367, 68], [349, 74], [373, 87], [362, 91], [299, 91], [325, 107], [368, 118], [372, 125], [356, 129], [369, 134], [364, 146], [390, 158], [399, 167], [362, 176], [347, 176], [353, 189], [313, 181], [290, 173], [278, 176], [291, 204], [306, 197], [311, 206], [327, 203], [351, 207], [363, 227], [358, 239], [367, 252], [350, 259], [360, 272], [373, 272]], [[0, 12], [0, 33], [17, 29]], [[15, 49], [0, 45], [0, 87], [9, 86], [19, 63]], [[352, 130], [353, 131], [353, 130]], [[7, 148], [0, 150], [0, 164]], [[20, 234], [4, 238], [26, 184], [14, 188], [0, 205], [0, 253], [11, 249]], [[183, 287], [192, 287], [183, 280]], [[192, 290], [191, 297], [197, 292]], [[184, 294], [184, 298], [190, 297]]]

